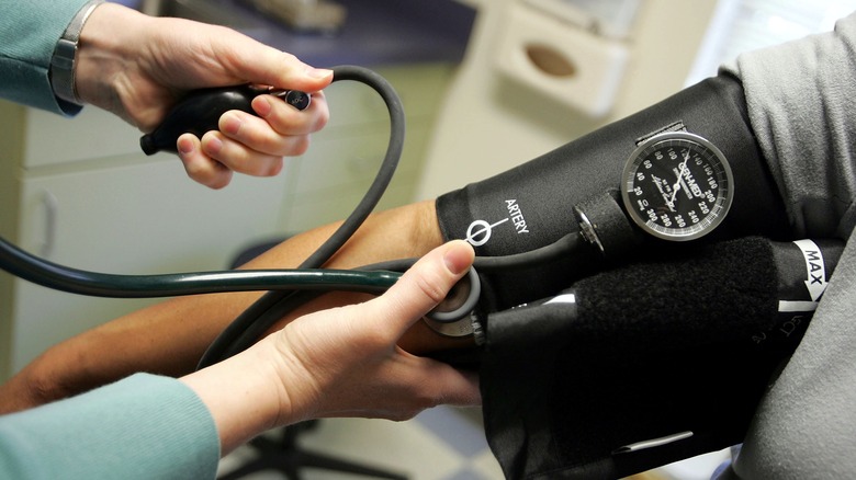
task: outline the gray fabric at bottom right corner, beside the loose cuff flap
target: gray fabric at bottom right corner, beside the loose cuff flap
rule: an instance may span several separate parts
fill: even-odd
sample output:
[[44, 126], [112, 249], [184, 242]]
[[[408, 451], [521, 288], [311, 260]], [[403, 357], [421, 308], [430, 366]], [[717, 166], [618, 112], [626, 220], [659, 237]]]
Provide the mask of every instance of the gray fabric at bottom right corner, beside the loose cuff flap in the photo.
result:
[[[844, 479], [856, 472], [856, 241], [811, 324], [761, 401], [737, 460], [742, 479]], [[723, 477], [723, 480], [729, 477]]]

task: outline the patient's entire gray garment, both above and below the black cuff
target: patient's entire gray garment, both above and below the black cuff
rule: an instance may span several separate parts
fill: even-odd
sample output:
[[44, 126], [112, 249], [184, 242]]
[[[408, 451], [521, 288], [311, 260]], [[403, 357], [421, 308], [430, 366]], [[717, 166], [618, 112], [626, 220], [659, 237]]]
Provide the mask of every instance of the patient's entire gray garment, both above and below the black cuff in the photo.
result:
[[856, 15], [833, 33], [744, 55], [732, 70], [743, 80], [753, 129], [798, 232], [849, 241], [730, 472], [849, 478], [856, 471]]

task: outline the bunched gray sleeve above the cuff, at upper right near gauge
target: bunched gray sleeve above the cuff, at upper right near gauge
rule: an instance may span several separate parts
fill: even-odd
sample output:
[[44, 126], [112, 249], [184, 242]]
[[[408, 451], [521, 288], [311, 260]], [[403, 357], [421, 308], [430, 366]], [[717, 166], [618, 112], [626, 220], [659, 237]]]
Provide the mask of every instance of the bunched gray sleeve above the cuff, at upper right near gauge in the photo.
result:
[[834, 32], [740, 56], [752, 127], [804, 237], [856, 224], [856, 14]]

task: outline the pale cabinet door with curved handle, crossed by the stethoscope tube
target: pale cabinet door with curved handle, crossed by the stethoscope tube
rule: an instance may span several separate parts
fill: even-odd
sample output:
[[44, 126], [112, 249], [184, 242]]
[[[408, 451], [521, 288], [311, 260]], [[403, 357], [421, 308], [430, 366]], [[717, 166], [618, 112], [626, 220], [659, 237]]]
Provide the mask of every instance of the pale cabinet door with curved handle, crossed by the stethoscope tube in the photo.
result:
[[[16, 241], [47, 260], [95, 272], [223, 270], [244, 245], [281, 235], [284, 191], [282, 178], [246, 175], [212, 191], [170, 161], [24, 179]], [[14, 370], [47, 346], [150, 302], [15, 282]]]

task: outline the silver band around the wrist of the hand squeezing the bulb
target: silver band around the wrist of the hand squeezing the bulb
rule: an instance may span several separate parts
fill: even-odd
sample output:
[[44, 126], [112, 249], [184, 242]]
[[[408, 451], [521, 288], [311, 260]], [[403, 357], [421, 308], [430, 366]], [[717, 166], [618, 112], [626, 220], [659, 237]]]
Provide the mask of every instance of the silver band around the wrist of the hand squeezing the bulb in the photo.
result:
[[54, 56], [50, 57], [50, 87], [54, 89], [54, 94], [77, 105], [83, 104], [77, 95], [77, 85], [75, 84], [75, 60], [80, 42], [80, 31], [83, 30], [83, 25], [95, 7], [101, 3], [104, 3], [104, 0], [89, 0], [78, 10], [57, 42]]

